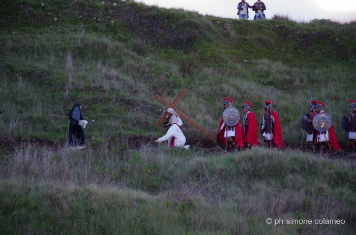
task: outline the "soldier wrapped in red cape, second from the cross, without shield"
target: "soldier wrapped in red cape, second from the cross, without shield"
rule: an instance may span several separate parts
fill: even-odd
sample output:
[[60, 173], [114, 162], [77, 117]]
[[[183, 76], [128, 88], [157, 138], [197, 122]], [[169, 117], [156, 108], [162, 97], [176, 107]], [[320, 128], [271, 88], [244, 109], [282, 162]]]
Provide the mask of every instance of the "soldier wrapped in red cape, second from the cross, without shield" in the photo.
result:
[[257, 146], [257, 122], [255, 114], [251, 112], [252, 105], [245, 100], [242, 107], [245, 116], [242, 119], [241, 136], [244, 150]]

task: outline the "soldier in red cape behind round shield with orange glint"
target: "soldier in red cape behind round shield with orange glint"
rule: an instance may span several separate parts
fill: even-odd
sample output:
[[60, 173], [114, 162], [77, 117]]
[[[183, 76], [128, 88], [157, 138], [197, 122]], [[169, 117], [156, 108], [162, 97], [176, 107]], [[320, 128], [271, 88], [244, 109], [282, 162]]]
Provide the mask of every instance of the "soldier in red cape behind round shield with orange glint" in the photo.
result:
[[[320, 101], [315, 101], [314, 111], [316, 114], [327, 113], [324, 111], [323, 107], [325, 107], [323, 103], [321, 103]], [[316, 131], [316, 144], [320, 144], [320, 153], [327, 152], [327, 150], [329, 149], [328, 142], [330, 147], [334, 151], [340, 149], [338, 141], [336, 140], [333, 125], [331, 125], [331, 127], [326, 131]]]

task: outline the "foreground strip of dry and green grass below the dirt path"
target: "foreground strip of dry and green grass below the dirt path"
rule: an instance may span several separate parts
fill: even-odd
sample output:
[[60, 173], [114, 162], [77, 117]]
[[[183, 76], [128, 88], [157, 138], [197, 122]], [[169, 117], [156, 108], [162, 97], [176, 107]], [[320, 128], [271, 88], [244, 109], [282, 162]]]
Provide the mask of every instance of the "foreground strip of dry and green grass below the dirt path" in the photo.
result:
[[[29, 147], [2, 161], [0, 226], [2, 234], [350, 234], [355, 167], [260, 148], [216, 156], [164, 147]], [[265, 223], [303, 216], [345, 224]]]

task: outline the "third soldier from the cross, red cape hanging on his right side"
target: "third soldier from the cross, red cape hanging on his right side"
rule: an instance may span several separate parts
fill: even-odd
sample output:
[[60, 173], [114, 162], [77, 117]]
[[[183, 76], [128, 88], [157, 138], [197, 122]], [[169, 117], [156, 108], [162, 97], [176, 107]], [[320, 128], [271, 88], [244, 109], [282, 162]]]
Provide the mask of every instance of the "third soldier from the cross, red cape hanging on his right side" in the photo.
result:
[[265, 100], [264, 104], [265, 104], [264, 110], [266, 112], [263, 114], [262, 125], [261, 125], [263, 146], [270, 148], [271, 140], [272, 140], [273, 146], [281, 149], [283, 147], [282, 131], [281, 131], [281, 124], [279, 122], [278, 115], [275, 111], [271, 112], [270, 100]]

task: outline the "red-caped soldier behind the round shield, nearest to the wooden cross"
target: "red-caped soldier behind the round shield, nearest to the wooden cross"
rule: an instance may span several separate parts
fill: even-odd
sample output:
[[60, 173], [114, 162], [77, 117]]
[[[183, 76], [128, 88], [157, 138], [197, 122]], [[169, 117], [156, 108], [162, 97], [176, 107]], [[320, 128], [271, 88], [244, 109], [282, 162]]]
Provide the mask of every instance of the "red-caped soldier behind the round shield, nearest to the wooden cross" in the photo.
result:
[[[225, 109], [232, 106], [233, 101], [231, 98], [225, 97], [223, 100]], [[228, 143], [227, 147], [231, 152], [242, 149], [244, 144], [242, 142], [239, 122], [234, 126], [227, 126], [227, 128], [225, 128], [225, 122], [223, 118], [221, 118], [216, 140], [219, 141], [222, 145], [226, 145], [226, 138]]]

